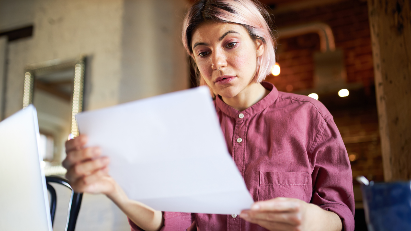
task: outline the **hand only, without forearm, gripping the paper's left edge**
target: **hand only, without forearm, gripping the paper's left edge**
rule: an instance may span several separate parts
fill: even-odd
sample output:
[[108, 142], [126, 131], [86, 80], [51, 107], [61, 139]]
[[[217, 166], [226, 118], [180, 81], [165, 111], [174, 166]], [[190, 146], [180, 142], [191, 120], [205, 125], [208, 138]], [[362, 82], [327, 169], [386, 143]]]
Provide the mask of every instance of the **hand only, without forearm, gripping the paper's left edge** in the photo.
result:
[[101, 157], [98, 147], [84, 148], [85, 135], [66, 142], [67, 157], [62, 162], [67, 169], [66, 178], [76, 192], [110, 194], [115, 190], [115, 181], [107, 172], [109, 158]]

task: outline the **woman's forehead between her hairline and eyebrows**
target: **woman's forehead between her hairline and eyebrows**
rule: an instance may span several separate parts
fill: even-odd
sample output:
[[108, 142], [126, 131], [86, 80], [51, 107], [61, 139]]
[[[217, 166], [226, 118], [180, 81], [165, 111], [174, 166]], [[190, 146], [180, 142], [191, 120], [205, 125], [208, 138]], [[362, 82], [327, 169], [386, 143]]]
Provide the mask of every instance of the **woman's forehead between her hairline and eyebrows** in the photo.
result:
[[235, 23], [201, 23], [192, 34], [192, 44], [196, 42], [218, 41], [219, 38], [227, 31], [233, 30], [238, 32], [239, 36], [248, 35], [247, 30], [242, 25]]

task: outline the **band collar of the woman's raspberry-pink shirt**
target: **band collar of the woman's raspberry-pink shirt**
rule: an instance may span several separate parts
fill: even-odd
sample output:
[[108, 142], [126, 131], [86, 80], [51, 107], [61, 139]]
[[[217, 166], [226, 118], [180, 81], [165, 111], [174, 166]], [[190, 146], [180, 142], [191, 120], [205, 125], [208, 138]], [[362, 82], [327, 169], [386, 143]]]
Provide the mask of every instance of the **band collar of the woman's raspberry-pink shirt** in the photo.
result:
[[261, 85], [263, 85], [264, 88], [269, 90], [270, 93], [268, 93], [266, 97], [264, 97], [251, 107], [247, 108], [246, 110], [240, 112], [234, 109], [233, 107], [230, 107], [229, 105], [224, 103], [224, 101], [222, 101], [222, 99], [219, 96], [215, 97], [217, 110], [221, 110], [222, 112], [224, 112], [224, 114], [227, 114], [229, 117], [233, 117], [236, 119], [239, 118], [240, 113], [244, 114], [243, 119], [247, 119], [253, 116], [254, 114], [257, 114], [258, 112], [261, 112], [266, 107], [274, 103], [274, 101], [278, 98], [278, 90], [272, 83], [263, 81], [261, 82]]

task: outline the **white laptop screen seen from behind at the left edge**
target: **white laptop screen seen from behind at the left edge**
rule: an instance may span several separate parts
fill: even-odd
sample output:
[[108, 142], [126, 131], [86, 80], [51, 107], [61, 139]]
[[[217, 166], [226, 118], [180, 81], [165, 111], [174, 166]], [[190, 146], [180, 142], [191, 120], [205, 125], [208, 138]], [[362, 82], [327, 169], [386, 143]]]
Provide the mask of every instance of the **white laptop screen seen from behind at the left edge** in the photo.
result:
[[33, 105], [0, 122], [1, 231], [52, 231], [38, 140]]

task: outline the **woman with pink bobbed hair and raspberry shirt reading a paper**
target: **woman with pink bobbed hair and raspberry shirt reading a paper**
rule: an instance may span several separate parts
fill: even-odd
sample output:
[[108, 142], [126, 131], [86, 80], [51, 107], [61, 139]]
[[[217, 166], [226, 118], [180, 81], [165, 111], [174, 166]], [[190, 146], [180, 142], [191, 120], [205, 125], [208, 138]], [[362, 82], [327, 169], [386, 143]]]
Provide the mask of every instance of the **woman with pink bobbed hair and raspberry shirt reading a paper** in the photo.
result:
[[74, 190], [106, 194], [132, 230], [352, 231], [351, 167], [331, 114], [319, 101], [261, 82], [275, 63], [264, 16], [251, 0], [201, 0], [182, 35], [200, 82], [216, 95], [229, 152], [257, 201], [250, 210], [173, 213], [132, 201], [107, 174], [100, 150], [83, 148], [84, 136], [66, 143], [63, 166]]

